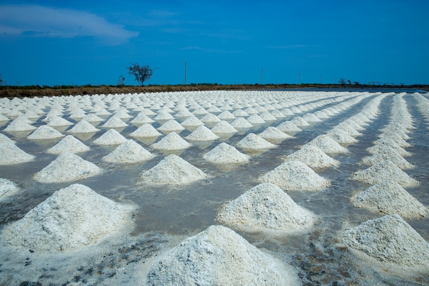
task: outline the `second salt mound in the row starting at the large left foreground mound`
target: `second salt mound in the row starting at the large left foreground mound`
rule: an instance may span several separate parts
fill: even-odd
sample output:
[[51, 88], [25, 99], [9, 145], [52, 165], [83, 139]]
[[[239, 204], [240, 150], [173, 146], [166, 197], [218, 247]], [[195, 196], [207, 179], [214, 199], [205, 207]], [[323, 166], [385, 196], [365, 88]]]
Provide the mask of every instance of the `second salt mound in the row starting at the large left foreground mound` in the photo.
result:
[[151, 184], [188, 184], [206, 178], [206, 174], [186, 160], [171, 154], [156, 166], [143, 171], [142, 182]]

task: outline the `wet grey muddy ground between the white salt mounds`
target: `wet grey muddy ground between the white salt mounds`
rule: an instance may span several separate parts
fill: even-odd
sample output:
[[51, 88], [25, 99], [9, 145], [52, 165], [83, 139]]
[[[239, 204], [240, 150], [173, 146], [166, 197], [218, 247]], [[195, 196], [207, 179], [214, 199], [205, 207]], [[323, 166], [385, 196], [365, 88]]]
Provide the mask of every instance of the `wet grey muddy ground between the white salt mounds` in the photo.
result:
[[[297, 93], [305, 95], [301, 102], [296, 101]], [[306, 105], [306, 110], [293, 115], [285, 115], [266, 123], [254, 125], [253, 128], [239, 130], [232, 136], [223, 136], [221, 139], [210, 142], [195, 143], [186, 150], [175, 150], [173, 152], [161, 152], [151, 147], [156, 139], [133, 138], [130, 133], [138, 127], [130, 121], [138, 115], [139, 110], [129, 108], [130, 119], [123, 119], [127, 127], [119, 130], [121, 135], [127, 139], [134, 139], [145, 147], [146, 150], [156, 155], [145, 163], [116, 164], [106, 163], [101, 158], [114, 150], [117, 145], [99, 146], [93, 141], [104, 132], [102, 128], [110, 116], [104, 116], [103, 122], [94, 124], [101, 131], [86, 135], [76, 136], [85, 145], [90, 147], [88, 152], [79, 154], [84, 160], [95, 163], [103, 169], [97, 176], [79, 180], [93, 189], [99, 195], [113, 200], [114, 202], [134, 204], [136, 209], [133, 213], [133, 228], [123, 235], [117, 235], [112, 239], [105, 239], [93, 246], [84, 246], [78, 250], [64, 252], [38, 252], [35, 250], [23, 250], [9, 246], [1, 239], [0, 246], [0, 285], [144, 285], [146, 278], [143, 268], [151, 263], [154, 257], [160, 256], [166, 250], [176, 246], [186, 237], [196, 235], [212, 226], [219, 224], [216, 215], [219, 207], [238, 198], [252, 187], [260, 183], [258, 178], [282, 164], [283, 156], [292, 154], [303, 145], [312, 141], [321, 134], [326, 134], [332, 128], [359, 112], [365, 111], [371, 100], [380, 97], [380, 104], [376, 115], [368, 121], [362, 135], [356, 136], [356, 143], [344, 145], [349, 150], [347, 154], [338, 154], [332, 158], [339, 160], [339, 167], [325, 169], [314, 169], [316, 173], [330, 180], [330, 187], [319, 191], [287, 191], [291, 198], [299, 205], [312, 211], [317, 215], [317, 222], [306, 233], [299, 235], [283, 235], [271, 237], [265, 233], [244, 233], [236, 230], [249, 243], [271, 254], [295, 267], [302, 285], [428, 285], [429, 274], [404, 275], [397, 272], [389, 265], [380, 267], [378, 264], [357, 257], [350, 251], [342, 241], [343, 230], [366, 222], [369, 219], [382, 217], [383, 214], [371, 213], [365, 208], [356, 208], [350, 202], [350, 197], [357, 191], [363, 191], [370, 184], [353, 180], [353, 174], [367, 165], [358, 164], [365, 156], [371, 156], [367, 148], [373, 146], [373, 142], [382, 133], [381, 129], [389, 124], [393, 100], [400, 95], [406, 102], [406, 108], [413, 119], [413, 129], [410, 130], [406, 140], [411, 147], [406, 151], [412, 155], [406, 157], [408, 163], [415, 166], [414, 169], [404, 170], [406, 174], [419, 181], [417, 187], [406, 187], [406, 191], [413, 195], [419, 202], [429, 206], [429, 141], [428, 141], [428, 117], [424, 111], [418, 108], [418, 102], [414, 94], [399, 93], [317, 93], [317, 92], [249, 92], [249, 99], [255, 106], [265, 106], [273, 109], [283, 110], [286, 105], [273, 107], [274, 104], [288, 103], [289, 108], [293, 106]], [[422, 93], [426, 99], [428, 95]], [[187, 99], [187, 106], [197, 102], [203, 106], [207, 97], [212, 96], [212, 104], [221, 108], [226, 102], [231, 106], [230, 112], [234, 112], [234, 104], [243, 104], [247, 98], [246, 92], [234, 93], [180, 93], [173, 97], [170, 93], [154, 95], [130, 95], [136, 100], [136, 106], [145, 103], [145, 99], [151, 99], [151, 105], [160, 99], [162, 103], [177, 104], [180, 98]], [[117, 95], [117, 102], [122, 106], [128, 103], [127, 95]], [[91, 97], [81, 97], [97, 105]], [[110, 98], [110, 97], [105, 97]], [[289, 100], [293, 98], [293, 100]], [[330, 98], [332, 100], [326, 101]], [[191, 100], [193, 99], [193, 100]], [[238, 100], [239, 99], [239, 100]], [[256, 100], [258, 99], [258, 100]], [[299, 99], [299, 97], [298, 97]], [[53, 104], [53, 100], [49, 103]], [[209, 101], [210, 102], [210, 101]], [[297, 103], [295, 103], [297, 102]], [[322, 104], [318, 104], [321, 102]], [[106, 104], [111, 104], [106, 102]], [[347, 104], [349, 103], [349, 104]], [[293, 134], [293, 138], [282, 142], [275, 142], [277, 147], [270, 150], [257, 152], [245, 152], [249, 154], [249, 163], [238, 166], [215, 166], [204, 160], [203, 156], [221, 142], [236, 146], [247, 134], [253, 132], [259, 134], [269, 126], [279, 126], [280, 123], [288, 121], [306, 113], [313, 113], [326, 108], [335, 109], [339, 104], [345, 108], [336, 114], [330, 115], [321, 122], [310, 123], [310, 126], [302, 127], [301, 132]], [[5, 108], [3, 102], [3, 110]], [[17, 104], [16, 106], [19, 106]], [[73, 124], [79, 120], [71, 119], [64, 106], [62, 117]], [[151, 108], [150, 104], [147, 108]], [[243, 105], [243, 110], [245, 110]], [[42, 109], [45, 114], [51, 106]], [[107, 108], [106, 108], [107, 109]], [[174, 107], [171, 107], [174, 110]], [[208, 109], [208, 107], [206, 108]], [[235, 108], [235, 109], [238, 109]], [[269, 110], [268, 112], [272, 111]], [[193, 109], [188, 108], [193, 112]], [[24, 110], [25, 111], [25, 110]], [[85, 110], [90, 113], [90, 110]], [[157, 110], [153, 110], [155, 113]], [[1, 109], [0, 109], [1, 112]], [[176, 111], [172, 113], [174, 116]], [[213, 112], [219, 115], [220, 112]], [[262, 113], [262, 111], [260, 112]], [[260, 114], [259, 113], [259, 114]], [[7, 115], [5, 115], [7, 117]], [[199, 119], [204, 115], [197, 115]], [[155, 115], [150, 116], [154, 118]], [[46, 124], [44, 115], [37, 119], [33, 126], [38, 127]], [[11, 121], [14, 118], [10, 118]], [[177, 119], [178, 122], [183, 120]], [[56, 159], [57, 155], [47, 154], [47, 149], [52, 147], [60, 139], [53, 140], [29, 140], [27, 135], [31, 132], [5, 132], [10, 122], [5, 121], [0, 126], [0, 132], [13, 139], [15, 145], [28, 154], [36, 156], [34, 161], [16, 165], [0, 165], [0, 178], [15, 182], [21, 190], [19, 193], [0, 200], [0, 230], [8, 224], [21, 219], [28, 211], [49, 198], [55, 191], [68, 187], [76, 182], [40, 183], [33, 176], [38, 171], [49, 165]], [[159, 128], [163, 122], [151, 123], [154, 128]], [[208, 127], [208, 124], [206, 125]], [[73, 127], [73, 126], [71, 126]], [[69, 134], [69, 128], [58, 128], [62, 134]], [[191, 134], [191, 130], [180, 132], [182, 138]], [[139, 184], [138, 178], [143, 171], [156, 166], [168, 154], [176, 154], [191, 165], [204, 171], [208, 178], [185, 185], [150, 185]], [[406, 222], [412, 226], [421, 237], [429, 241], [429, 219], [407, 219]], [[232, 227], [231, 227], [232, 228]], [[234, 229], [234, 228], [232, 228]], [[429, 273], [429, 272], [428, 272]], [[33, 284], [31, 284], [33, 283]]]

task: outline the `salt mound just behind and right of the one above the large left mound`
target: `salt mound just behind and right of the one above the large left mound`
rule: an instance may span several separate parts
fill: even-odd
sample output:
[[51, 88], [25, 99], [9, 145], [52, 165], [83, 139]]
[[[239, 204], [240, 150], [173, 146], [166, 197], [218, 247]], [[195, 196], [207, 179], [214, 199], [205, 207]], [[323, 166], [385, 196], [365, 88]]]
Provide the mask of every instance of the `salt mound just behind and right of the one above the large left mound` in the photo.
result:
[[134, 140], [127, 140], [119, 145], [110, 154], [102, 158], [109, 163], [140, 163], [154, 158], [149, 151], [145, 150]]

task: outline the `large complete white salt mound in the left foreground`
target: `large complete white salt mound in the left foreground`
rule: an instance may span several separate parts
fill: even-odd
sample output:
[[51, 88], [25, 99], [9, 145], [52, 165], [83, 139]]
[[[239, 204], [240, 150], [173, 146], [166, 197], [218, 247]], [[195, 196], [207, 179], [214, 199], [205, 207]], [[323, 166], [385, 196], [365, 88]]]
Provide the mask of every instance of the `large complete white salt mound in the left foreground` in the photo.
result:
[[38, 251], [74, 250], [123, 230], [131, 222], [130, 211], [130, 206], [72, 184], [6, 226], [3, 237], [12, 246]]

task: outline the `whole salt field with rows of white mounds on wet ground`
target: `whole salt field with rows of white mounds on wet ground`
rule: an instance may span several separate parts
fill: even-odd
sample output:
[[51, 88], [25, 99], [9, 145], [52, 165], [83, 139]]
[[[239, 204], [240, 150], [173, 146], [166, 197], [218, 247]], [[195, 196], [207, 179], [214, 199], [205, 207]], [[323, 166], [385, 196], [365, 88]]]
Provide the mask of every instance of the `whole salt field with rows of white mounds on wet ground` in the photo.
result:
[[429, 285], [429, 94], [0, 99], [0, 285]]

